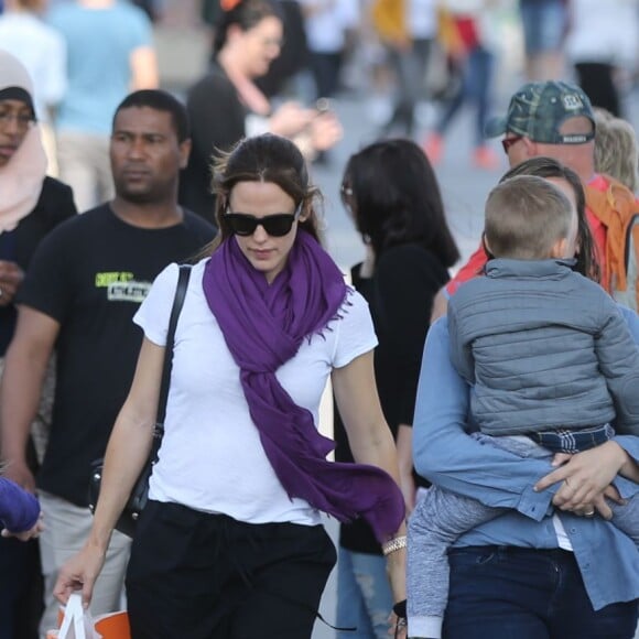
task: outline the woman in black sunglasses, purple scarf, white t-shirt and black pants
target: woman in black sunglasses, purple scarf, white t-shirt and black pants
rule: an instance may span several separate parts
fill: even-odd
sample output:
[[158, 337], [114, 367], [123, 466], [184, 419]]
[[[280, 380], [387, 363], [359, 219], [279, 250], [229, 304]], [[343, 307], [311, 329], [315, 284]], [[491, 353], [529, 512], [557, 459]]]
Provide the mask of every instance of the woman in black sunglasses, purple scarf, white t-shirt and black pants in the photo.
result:
[[[311, 637], [335, 563], [320, 511], [365, 518], [404, 598], [404, 506], [372, 368], [364, 299], [318, 241], [304, 158], [248, 138], [216, 167], [219, 235], [192, 269], [165, 434], [133, 540], [136, 639]], [[104, 549], [151, 446], [177, 267], [136, 315], [144, 340], [107, 450], [94, 528], [56, 594], [90, 599]], [[331, 376], [357, 464], [326, 461], [316, 424]]]

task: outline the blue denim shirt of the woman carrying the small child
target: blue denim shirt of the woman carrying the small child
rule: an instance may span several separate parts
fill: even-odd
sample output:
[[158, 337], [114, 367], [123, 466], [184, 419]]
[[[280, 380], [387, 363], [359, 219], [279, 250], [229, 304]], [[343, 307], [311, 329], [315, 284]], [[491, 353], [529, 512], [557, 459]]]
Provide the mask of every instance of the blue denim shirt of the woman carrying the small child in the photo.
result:
[[[622, 308], [639, 343], [639, 318]], [[442, 488], [494, 507], [509, 508], [492, 521], [465, 533], [456, 545], [559, 548], [551, 499], [559, 485], [534, 492], [534, 484], [551, 472], [550, 462], [522, 459], [467, 435], [469, 392], [450, 358], [447, 318], [431, 326], [426, 337], [413, 422], [413, 457], [418, 472]], [[617, 436], [628, 454], [639, 458], [639, 437]], [[622, 497], [639, 487], [621, 477]], [[573, 545], [593, 607], [639, 598], [639, 550], [610, 522], [556, 511]]]

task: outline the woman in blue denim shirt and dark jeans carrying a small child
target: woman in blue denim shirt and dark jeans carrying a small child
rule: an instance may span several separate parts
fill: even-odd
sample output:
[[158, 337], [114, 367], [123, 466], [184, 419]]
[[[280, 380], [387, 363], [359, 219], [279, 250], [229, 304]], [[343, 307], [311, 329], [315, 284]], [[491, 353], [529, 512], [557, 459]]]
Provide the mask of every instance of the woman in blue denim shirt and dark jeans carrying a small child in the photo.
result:
[[[561, 164], [529, 160], [507, 176], [513, 174], [552, 180], [584, 217], [583, 187]], [[586, 224], [578, 225], [582, 259], [576, 268], [593, 277], [589, 232]], [[637, 315], [619, 310], [639, 343]], [[574, 360], [580, 357], [575, 353]], [[436, 486], [503, 509], [448, 552], [443, 636], [630, 639], [637, 625], [639, 552], [607, 521], [606, 498], [637, 494], [637, 484], [627, 478], [639, 470], [639, 438], [615, 436], [588, 451], [560, 455], [552, 465], [479, 443], [469, 435], [475, 427], [470, 387], [452, 364], [447, 317], [431, 326], [420, 381], [413, 431], [418, 472]]]

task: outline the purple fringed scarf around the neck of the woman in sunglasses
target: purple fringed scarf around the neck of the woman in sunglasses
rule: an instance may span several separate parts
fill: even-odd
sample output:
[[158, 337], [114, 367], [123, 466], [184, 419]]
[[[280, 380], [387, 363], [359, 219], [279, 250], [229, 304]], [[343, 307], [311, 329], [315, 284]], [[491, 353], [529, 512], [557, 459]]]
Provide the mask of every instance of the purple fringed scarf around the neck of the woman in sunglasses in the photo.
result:
[[207, 262], [203, 288], [241, 369], [267, 457], [289, 497], [305, 499], [339, 521], [364, 517], [380, 541], [393, 534], [404, 517], [397, 484], [376, 466], [327, 462], [335, 443], [317, 431], [312, 413], [295, 404], [275, 377], [305, 337], [339, 316], [347, 288], [333, 260], [299, 229], [286, 267], [269, 285], [229, 238]]

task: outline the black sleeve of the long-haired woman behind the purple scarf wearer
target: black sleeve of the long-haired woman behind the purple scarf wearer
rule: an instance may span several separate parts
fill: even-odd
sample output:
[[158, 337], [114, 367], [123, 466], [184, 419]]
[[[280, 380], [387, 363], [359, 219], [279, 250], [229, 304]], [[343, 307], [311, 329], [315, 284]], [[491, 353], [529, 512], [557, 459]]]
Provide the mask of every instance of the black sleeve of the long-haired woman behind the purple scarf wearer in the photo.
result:
[[375, 296], [380, 344], [383, 339], [387, 358], [392, 358], [402, 380], [398, 423], [412, 424], [433, 299], [447, 281], [442, 263], [419, 246], [390, 249], [378, 261]]

